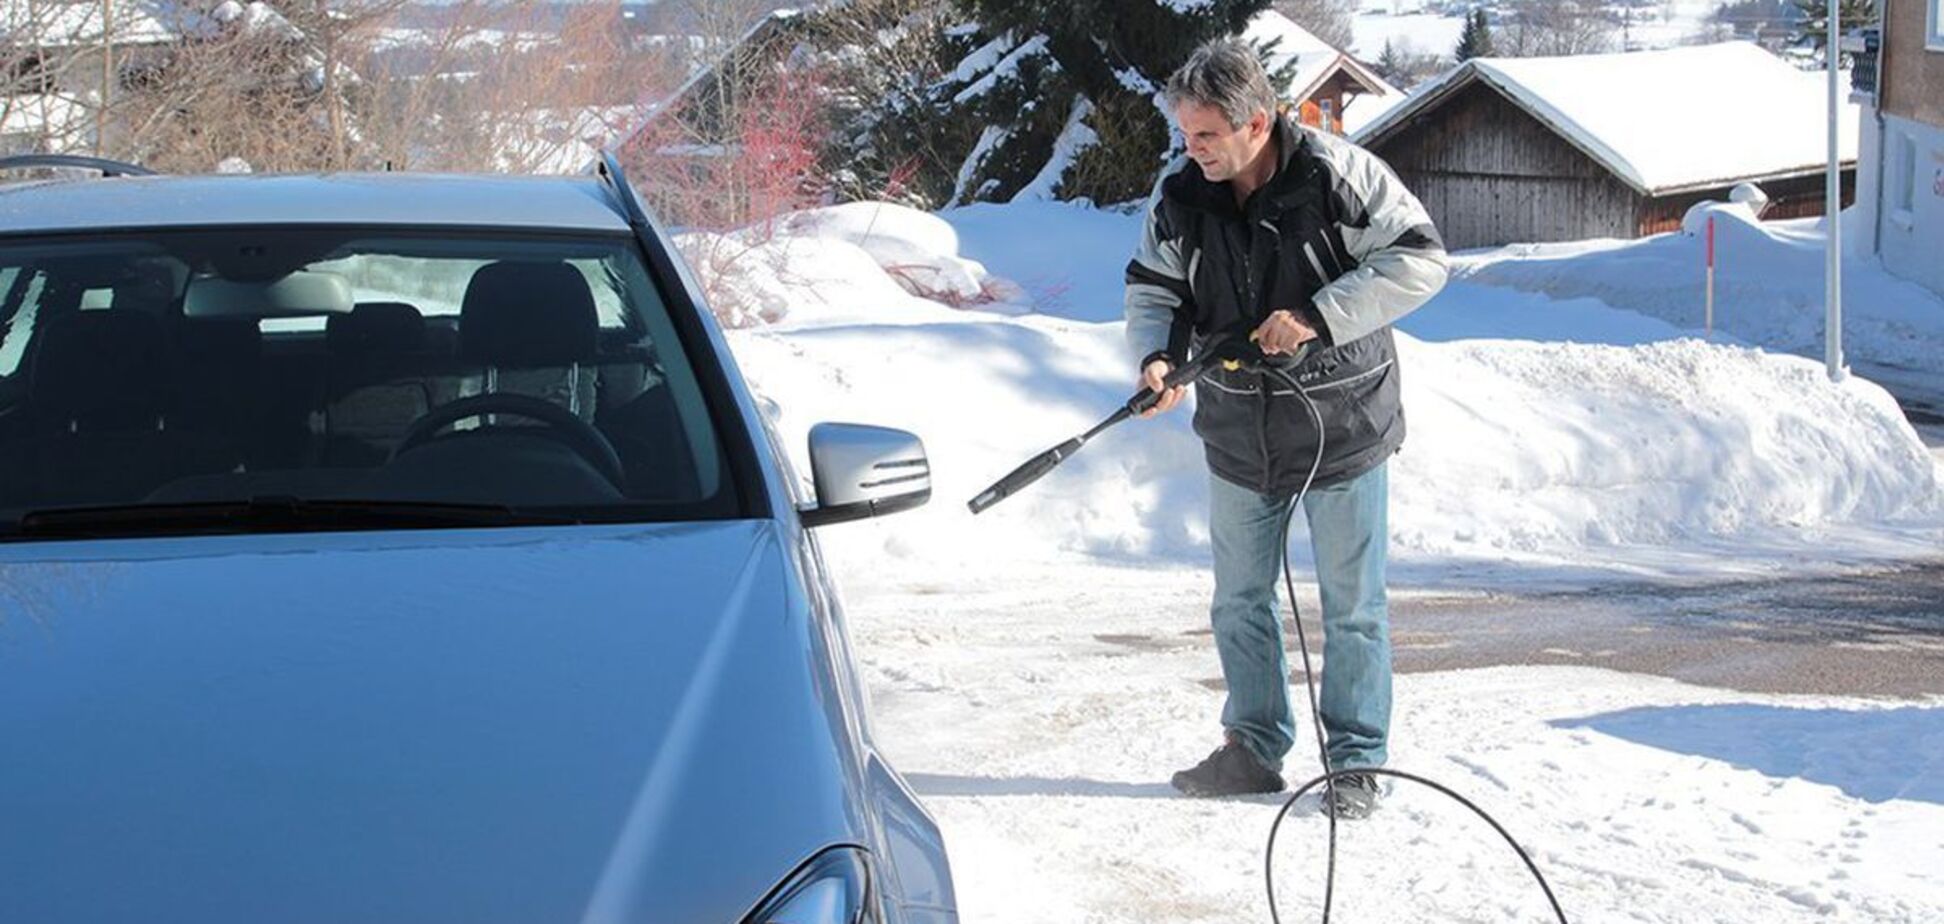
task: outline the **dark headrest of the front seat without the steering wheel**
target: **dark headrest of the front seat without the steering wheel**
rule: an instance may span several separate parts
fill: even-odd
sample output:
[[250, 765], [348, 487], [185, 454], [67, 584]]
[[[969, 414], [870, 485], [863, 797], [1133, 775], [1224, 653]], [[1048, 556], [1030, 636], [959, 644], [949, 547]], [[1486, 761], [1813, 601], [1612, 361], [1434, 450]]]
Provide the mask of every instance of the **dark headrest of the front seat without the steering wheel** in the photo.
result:
[[45, 418], [150, 428], [167, 414], [177, 381], [156, 315], [80, 311], [54, 319], [35, 340], [29, 401]]

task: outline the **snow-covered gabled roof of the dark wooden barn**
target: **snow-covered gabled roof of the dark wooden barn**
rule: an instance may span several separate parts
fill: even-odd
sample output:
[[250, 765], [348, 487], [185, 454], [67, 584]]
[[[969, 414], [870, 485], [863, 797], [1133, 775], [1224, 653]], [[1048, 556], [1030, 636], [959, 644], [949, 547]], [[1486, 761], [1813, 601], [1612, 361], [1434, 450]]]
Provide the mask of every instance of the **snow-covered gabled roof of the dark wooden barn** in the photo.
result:
[[[1827, 161], [1827, 88], [1750, 43], [1565, 58], [1474, 58], [1355, 134], [1371, 146], [1485, 82], [1629, 187], [1707, 189]], [[1839, 103], [1839, 158], [1857, 160], [1858, 109]]]

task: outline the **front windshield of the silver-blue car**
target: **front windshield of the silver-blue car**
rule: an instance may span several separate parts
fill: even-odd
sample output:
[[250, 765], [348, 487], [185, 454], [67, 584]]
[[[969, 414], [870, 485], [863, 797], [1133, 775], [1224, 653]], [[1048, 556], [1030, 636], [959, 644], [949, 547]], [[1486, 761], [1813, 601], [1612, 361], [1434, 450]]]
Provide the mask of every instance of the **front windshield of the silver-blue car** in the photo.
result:
[[0, 243], [10, 539], [737, 510], [630, 237]]

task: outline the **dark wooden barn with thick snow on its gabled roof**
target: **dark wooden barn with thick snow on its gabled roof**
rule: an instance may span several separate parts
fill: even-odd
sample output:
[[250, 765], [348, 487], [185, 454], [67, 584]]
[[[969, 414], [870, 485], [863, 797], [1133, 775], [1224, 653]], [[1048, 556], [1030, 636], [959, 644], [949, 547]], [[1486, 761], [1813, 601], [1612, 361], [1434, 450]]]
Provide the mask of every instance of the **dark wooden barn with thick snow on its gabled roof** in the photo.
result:
[[[1425, 202], [1446, 247], [1641, 237], [1738, 183], [1763, 218], [1823, 212], [1822, 74], [1748, 43], [1474, 58], [1355, 132]], [[1857, 126], [1841, 109], [1843, 202]]]

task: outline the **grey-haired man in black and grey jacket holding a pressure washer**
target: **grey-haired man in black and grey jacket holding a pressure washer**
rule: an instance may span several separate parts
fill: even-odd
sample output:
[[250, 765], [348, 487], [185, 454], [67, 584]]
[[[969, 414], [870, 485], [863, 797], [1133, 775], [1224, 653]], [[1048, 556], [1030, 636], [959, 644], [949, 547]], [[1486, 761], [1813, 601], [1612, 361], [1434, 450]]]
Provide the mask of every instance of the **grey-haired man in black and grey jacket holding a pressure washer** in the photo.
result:
[[[1277, 539], [1312, 467], [1302, 512], [1322, 591], [1330, 768], [1384, 764], [1386, 473], [1404, 442], [1390, 325], [1444, 286], [1444, 245], [1382, 160], [1275, 115], [1248, 45], [1198, 49], [1168, 80], [1166, 101], [1188, 156], [1163, 171], [1128, 265], [1128, 340], [1141, 383], [1163, 391], [1174, 364], [1211, 335], [1244, 331], [1322, 416], [1318, 434], [1289, 385], [1248, 368], [1217, 368], [1198, 383], [1194, 428], [1211, 473], [1209, 615], [1229, 700], [1225, 743], [1174, 774], [1174, 786], [1190, 796], [1279, 792], [1295, 720]], [[1166, 389], [1149, 416], [1184, 393]], [[1376, 798], [1372, 774], [1349, 774], [1324, 807], [1363, 817]]]

